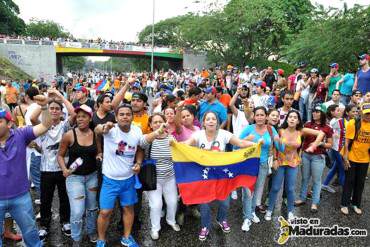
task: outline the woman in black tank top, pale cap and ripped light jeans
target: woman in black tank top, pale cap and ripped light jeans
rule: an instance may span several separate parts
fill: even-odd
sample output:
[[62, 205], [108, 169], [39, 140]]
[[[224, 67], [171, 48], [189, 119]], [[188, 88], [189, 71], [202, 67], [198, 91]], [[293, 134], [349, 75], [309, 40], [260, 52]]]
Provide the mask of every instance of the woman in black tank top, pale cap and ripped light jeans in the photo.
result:
[[[77, 113], [77, 128], [68, 131], [62, 138], [58, 152], [58, 163], [66, 179], [67, 193], [71, 207], [71, 237], [73, 246], [82, 240], [83, 215], [86, 213], [87, 234], [91, 242], [96, 242], [96, 219], [98, 190], [96, 156], [98, 148], [94, 132], [89, 128], [92, 110], [86, 105], [75, 109]], [[64, 158], [69, 153], [66, 164]], [[77, 159], [82, 159], [82, 164], [73, 171], [70, 166]]]

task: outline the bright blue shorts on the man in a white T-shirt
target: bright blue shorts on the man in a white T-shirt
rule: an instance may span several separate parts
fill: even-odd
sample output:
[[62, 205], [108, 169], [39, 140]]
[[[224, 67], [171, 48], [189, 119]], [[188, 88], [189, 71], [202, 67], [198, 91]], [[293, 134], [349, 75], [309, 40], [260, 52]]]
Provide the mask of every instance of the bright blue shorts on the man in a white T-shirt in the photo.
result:
[[100, 191], [100, 209], [113, 209], [117, 197], [121, 207], [137, 203], [135, 177], [124, 180], [115, 180], [103, 175], [103, 184]]

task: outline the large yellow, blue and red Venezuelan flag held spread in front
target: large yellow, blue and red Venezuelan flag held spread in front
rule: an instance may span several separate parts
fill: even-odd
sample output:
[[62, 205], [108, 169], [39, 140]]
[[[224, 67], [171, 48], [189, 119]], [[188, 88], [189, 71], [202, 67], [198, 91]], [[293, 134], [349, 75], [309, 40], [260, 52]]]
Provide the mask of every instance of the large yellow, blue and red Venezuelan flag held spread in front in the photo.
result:
[[261, 146], [214, 152], [182, 143], [171, 146], [176, 183], [184, 204], [225, 200], [239, 187], [254, 190]]

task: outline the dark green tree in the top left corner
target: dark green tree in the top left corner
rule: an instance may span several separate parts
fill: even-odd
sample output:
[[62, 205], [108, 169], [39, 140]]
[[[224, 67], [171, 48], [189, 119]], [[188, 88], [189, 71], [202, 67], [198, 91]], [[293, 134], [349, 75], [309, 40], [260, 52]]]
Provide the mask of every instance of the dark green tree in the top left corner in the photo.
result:
[[18, 17], [19, 7], [12, 0], [0, 0], [0, 33], [22, 34], [26, 24]]

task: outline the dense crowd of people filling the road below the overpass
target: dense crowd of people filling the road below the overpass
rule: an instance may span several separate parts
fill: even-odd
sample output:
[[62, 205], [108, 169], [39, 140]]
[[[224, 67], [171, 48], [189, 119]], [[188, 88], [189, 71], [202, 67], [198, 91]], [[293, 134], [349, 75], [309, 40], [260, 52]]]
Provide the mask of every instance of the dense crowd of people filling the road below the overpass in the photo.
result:
[[[357, 72], [345, 74], [332, 63], [329, 73], [297, 66], [289, 76], [271, 67], [258, 71], [247, 65], [240, 71], [228, 65], [176, 72], [70, 73], [48, 83], [3, 80], [0, 232], [7, 239], [23, 238], [27, 246], [42, 246], [52, 231], [57, 188], [61, 230], [72, 246], [81, 245], [84, 221], [89, 241], [106, 246], [117, 202], [121, 244], [138, 246], [131, 232], [141, 224], [143, 193], [153, 240], [160, 236], [163, 213], [167, 224], [181, 231], [186, 211], [200, 218], [198, 238], [206, 240], [212, 230], [210, 204], [182, 203], [171, 157], [175, 141], [216, 152], [261, 144], [254, 190], [239, 191], [242, 231], [261, 217], [272, 220], [279, 191], [289, 220], [308, 198], [312, 214], [325, 210], [320, 208], [323, 190], [341, 197], [337, 206], [342, 214], [352, 209], [361, 215], [370, 159], [370, 56], [358, 59]], [[135, 187], [135, 174], [151, 159], [156, 161], [157, 186], [143, 192]], [[323, 177], [325, 167], [329, 172]], [[216, 220], [225, 234], [231, 231], [230, 200], [237, 198], [238, 190], [218, 201]], [[34, 203], [40, 204], [39, 213]], [[14, 221], [22, 235], [14, 232]]]

